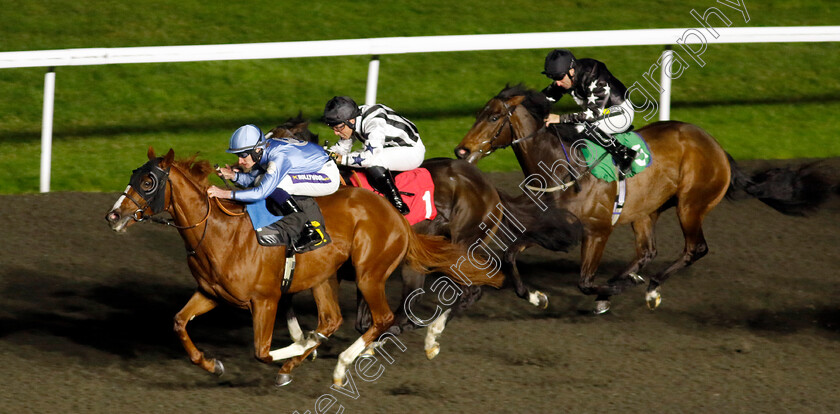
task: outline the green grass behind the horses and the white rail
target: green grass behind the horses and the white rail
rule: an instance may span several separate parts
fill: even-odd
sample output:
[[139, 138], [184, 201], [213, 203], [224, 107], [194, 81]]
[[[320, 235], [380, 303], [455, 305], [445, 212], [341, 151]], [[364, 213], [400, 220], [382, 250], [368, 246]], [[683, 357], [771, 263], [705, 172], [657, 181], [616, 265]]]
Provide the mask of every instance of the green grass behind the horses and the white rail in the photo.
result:
[[[381, 3], [381, 4], [380, 4]], [[10, 0], [0, 14], [0, 51], [81, 47], [278, 42], [385, 36], [698, 27], [689, 11], [717, 6], [734, 26], [836, 24], [834, 1], [748, 2], [750, 22], [707, 1], [629, 0], [493, 3], [311, 1]], [[836, 20], [836, 19], [835, 19]], [[558, 45], [562, 46], [562, 45]], [[660, 47], [577, 48], [628, 86]], [[677, 49], [679, 52], [679, 48]], [[413, 120], [427, 155], [451, 156], [475, 113], [507, 83], [547, 83], [548, 50], [382, 56], [378, 101]], [[736, 158], [840, 155], [837, 44], [710, 44], [705, 67], [674, 81], [672, 119], [698, 124]], [[317, 123], [334, 95], [364, 100], [368, 56], [59, 67], [53, 191], [118, 191], [152, 145], [212, 162], [233, 130], [268, 129], [299, 111]], [[693, 63], [693, 61], [689, 61]], [[44, 68], [0, 69], [0, 194], [37, 192]], [[571, 100], [562, 109], [572, 110]], [[644, 124], [637, 118], [637, 126]], [[480, 164], [516, 170], [510, 151]]]

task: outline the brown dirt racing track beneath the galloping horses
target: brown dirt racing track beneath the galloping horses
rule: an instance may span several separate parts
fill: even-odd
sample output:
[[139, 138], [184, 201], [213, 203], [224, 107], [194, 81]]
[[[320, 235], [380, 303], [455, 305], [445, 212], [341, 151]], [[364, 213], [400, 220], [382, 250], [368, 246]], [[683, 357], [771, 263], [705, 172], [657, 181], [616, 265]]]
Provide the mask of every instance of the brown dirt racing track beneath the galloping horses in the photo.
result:
[[[794, 161], [742, 162], [746, 170]], [[824, 160], [840, 177], [840, 159]], [[126, 181], [128, 179], [126, 171]], [[520, 173], [491, 174], [516, 189]], [[840, 411], [840, 202], [788, 217], [757, 200], [724, 201], [707, 217], [708, 256], [663, 285], [647, 309], [644, 288], [592, 316], [579, 293], [579, 252], [532, 249], [526, 283], [547, 310], [512, 289], [486, 291], [441, 338], [428, 361], [424, 331], [380, 359], [378, 378], [355, 372], [355, 392], [330, 389], [338, 354], [358, 336], [355, 292], [342, 285], [345, 323], [273, 386], [279, 366], [256, 361], [250, 315], [220, 307], [189, 330], [227, 372], [193, 366], [172, 317], [195, 282], [177, 232], [153, 224], [114, 234], [104, 215], [116, 193], [0, 196], [0, 412], [4, 413], [774, 413]], [[682, 250], [675, 214], [657, 227], [659, 256]], [[599, 278], [633, 256], [616, 230]], [[389, 291], [396, 305], [399, 279]], [[308, 293], [295, 297], [304, 329], [316, 324]], [[423, 308], [431, 314], [431, 307]], [[274, 345], [289, 342], [284, 324]], [[370, 379], [370, 378], [368, 378]], [[329, 405], [332, 403], [333, 405]]]

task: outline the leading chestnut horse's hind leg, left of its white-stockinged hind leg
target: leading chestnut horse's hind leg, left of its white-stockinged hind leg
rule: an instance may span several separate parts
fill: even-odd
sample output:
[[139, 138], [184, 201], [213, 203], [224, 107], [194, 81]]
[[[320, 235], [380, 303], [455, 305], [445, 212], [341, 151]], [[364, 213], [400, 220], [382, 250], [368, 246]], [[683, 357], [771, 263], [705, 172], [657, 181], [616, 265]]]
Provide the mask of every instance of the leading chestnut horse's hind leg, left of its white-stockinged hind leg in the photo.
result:
[[313, 287], [312, 297], [315, 299], [315, 306], [318, 308], [318, 328], [313, 335], [306, 338], [302, 345], [304, 349], [300, 355], [286, 361], [280, 368], [280, 371], [277, 372], [277, 378], [275, 380], [277, 386], [286, 385], [291, 382], [292, 370], [300, 365], [310, 353], [314, 352], [318, 345], [335, 333], [343, 322], [341, 309], [338, 307], [337, 277], [330, 277]]

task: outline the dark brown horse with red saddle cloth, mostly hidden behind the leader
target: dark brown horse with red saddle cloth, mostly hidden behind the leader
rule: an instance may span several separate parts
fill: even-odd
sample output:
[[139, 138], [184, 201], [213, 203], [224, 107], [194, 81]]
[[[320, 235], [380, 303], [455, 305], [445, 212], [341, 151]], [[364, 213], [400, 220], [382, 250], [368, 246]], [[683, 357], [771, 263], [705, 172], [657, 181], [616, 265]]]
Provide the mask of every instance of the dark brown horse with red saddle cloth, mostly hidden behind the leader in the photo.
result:
[[[318, 136], [308, 129], [308, 122], [300, 117], [290, 119], [269, 131], [266, 136], [297, 138], [318, 143]], [[516, 256], [528, 246], [538, 245], [552, 251], [568, 251], [580, 240], [581, 226], [577, 218], [565, 209], [539, 209], [526, 196], [511, 197], [497, 189], [493, 183], [473, 164], [450, 158], [432, 158], [421, 165], [426, 168], [435, 185], [434, 204], [437, 217], [415, 224], [414, 231], [420, 234], [444, 236], [452, 243], [473, 246], [477, 242], [492, 249], [502, 275], [511, 277], [516, 294], [534, 306], [548, 307], [548, 297], [538, 290], [529, 290], [522, 283], [516, 267]], [[350, 169], [342, 174], [349, 177]], [[422, 289], [425, 275], [408, 268], [402, 269], [403, 302], [412, 292]], [[424, 322], [428, 326], [426, 356], [434, 358], [440, 351], [437, 337], [453, 317], [481, 297], [481, 288], [471, 286], [461, 289], [452, 311], [446, 311], [437, 318]], [[293, 315], [293, 313], [291, 314]], [[290, 316], [290, 319], [294, 318]], [[397, 311], [392, 332], [418, 326], [418, 321], [409, 318], [405, 304]], [[364, 332], [370, 325], [370, 312], [364, 300], [359, 298], [356, 314], [356, 329]], [[299, 330], [290, 326], [290, 330]]]

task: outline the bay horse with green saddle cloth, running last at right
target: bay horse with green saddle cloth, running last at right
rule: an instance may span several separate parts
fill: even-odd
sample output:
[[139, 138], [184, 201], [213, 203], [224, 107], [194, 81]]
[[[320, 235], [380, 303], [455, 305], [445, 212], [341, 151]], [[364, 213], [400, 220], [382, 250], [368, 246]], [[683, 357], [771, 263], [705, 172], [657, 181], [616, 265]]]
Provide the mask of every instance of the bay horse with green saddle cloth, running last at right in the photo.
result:
[[[596, 284], [595, 272], [613, 229], [616, 184], [598, 180], [578, 166], [575, 160], [583, 157], [571, 145], [580, 136], [574, 125], [544, 126], [550, 105], [543, 94], [521, 85], [504, 88], [479, 112], [455, 155], [475, 163], [511, 146], [526, 182], [539, 184], [530, 186], [532, 190], [526, 194], [535, 202], [549, 198], [550, 203], [569, 209], [581, 220], [584, 234], [578, 287], [584, 294], [597, 295], [596, 313], [609, 309], [610, 296], [644, 282], [637, 272], [656, 256], [653, 229], [664, 210], [677, 207], [685, 248], [676, 261], [650, 278], [646, 301], [651, 309], [659, 305], [660, 285], [669, 276], [708, 253], [703, 218], [728, 190], [743, 190], [785, 214], [801, 214], [803, 208], [813, 207], [811, 201], [825, 198], [803, 177], [779, 173], [771, 175], [784, 176], [786, 182], [759, 183], [758, 175], [750, 180], [714, 137], [698, 126], [677, 121], [647, 125], [638, 133], [647, 142], [653, 163], [627, 179], [627, 198], [617, 223], [632, 225], [637, 257], [607, 284]], [[566, 179], [575, 182], [574, 188], [555, 186]], [[523, 190], [529, 187], [524, 184]], [[544, 191], [534, 191], [535, 187]]]

